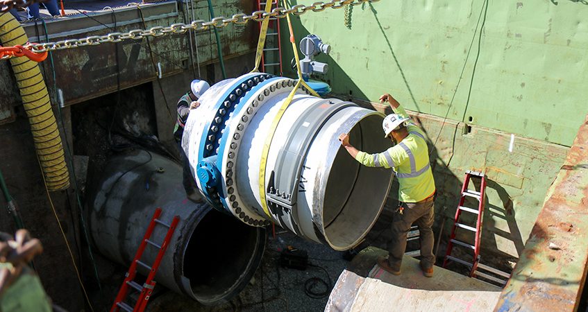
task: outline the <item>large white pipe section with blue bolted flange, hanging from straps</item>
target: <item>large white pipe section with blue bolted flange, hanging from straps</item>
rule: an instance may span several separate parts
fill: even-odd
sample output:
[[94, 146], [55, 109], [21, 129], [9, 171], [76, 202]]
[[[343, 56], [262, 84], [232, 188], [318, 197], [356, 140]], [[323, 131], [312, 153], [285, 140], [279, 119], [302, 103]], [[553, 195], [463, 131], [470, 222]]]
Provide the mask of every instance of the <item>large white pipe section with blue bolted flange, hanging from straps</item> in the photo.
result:
[[300, 88], [276, 119], [295, 85], [266, 73], [212, 85], [190, 112], [183, 149], [212, 207], [249, 225], [276, 223], [335, 250], [353, 248], [378, 218], [392, 171], [360, 166], [337, 137], [350, 132], [358, 148], [385, 150], [384, 115]]

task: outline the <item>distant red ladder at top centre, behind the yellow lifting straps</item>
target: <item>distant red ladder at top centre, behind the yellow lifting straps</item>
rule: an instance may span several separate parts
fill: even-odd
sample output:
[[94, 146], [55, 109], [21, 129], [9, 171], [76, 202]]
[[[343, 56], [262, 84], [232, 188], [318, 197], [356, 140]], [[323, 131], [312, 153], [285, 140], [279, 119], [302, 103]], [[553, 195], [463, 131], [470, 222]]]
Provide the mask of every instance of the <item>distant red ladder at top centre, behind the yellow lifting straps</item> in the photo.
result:
[[[265, 10], [266, 0], [258, 0], [258, 10]], [[271, 0], [271, 10], [278, 8], [278, 0]], [[262, 22], [259, 22], [261, 29]], [[276, 17], [270, 17], [267, 25], [265, 45], [261, 55], [261, 71], [283, 76], [282, 68], [282, 40], [280, 35], [280, 21]]]

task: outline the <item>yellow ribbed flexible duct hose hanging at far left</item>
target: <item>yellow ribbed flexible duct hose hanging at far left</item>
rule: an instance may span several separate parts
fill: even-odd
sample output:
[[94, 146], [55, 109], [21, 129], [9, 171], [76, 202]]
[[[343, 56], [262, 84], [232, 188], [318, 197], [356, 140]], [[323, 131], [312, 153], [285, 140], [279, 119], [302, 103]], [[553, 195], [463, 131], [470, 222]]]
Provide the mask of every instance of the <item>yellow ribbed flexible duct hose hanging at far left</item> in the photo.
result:
[[[8, 12], [0, 13], [0, 44], [2, 46], [24, 45], [28, 37], [20, 23]], [[37, 157], [49, 191], [69, 187], [69, 172], [51, 99], [43, 80], [39, 65], [26, 57], [11, 58], [17, 85], [22, 96], [24, 110], [31, 123]]]

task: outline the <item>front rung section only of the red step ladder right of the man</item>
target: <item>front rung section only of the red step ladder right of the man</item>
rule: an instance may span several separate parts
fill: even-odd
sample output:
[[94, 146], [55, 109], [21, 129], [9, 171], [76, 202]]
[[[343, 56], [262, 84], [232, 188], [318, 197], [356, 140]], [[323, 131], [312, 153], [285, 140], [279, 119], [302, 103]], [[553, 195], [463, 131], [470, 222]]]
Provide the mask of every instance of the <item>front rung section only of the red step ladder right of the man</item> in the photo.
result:
[[[468, 189], [469, 182], [472, 177], [480, 178], [480, 191], [474, 191]], [[482, 239], [482, 214], [484, 213], [484, 204], [485, 204], [485, 191], [486, 191], [486, 175], [484, 173], [479, 173], [476, 171], [466, 171], [466, 177], [464, 179], [464, 185], [462, 186], [462, 197], [460, 198], [460, 204], [457, 206], [457, 210], [455, 211], [455, 222], [453, 223], [453, 228], [451, 229], [451, 237], [449, 238], [449, 242], [447, 243], [447, 252], [445, 254], [445, 259], [443, 261], [443, 267], [445, 268], [448, 261], [455, 261], [457, 263], [463, 264], [464, 266], [468, 266], [471, 268], [469, 276], [473, 277], [474, 272], [476, 272], [476, 268], [478, 267], [478, 262], [480, 260], [480, 241]], [[478, 208], [470, 208], [464, 207], [464, 202], [466, 197], [474, 198], [478, 200]], [[471, 225], [465, 225], [464, 223], [460, 223], [460, 216], [462, 211], [465, 211], [470, 214], [478, 215], [476, 218], [476, 227], [472, 227]], [[467, 229], [474, 233], [474, 243], [470, 245], [469, 243], [465, 243], [463, 241], [457, 241], [455, 239], [455, 234], [457, 234], [457, 229]], [[471, 263], [468, 261], [458, 259], [456, 257], [451, 256], [451, 251], [453, 250], [453, 245], [459, 245], [463, 248], [468, 248], [473, 250], [473, 258]]]

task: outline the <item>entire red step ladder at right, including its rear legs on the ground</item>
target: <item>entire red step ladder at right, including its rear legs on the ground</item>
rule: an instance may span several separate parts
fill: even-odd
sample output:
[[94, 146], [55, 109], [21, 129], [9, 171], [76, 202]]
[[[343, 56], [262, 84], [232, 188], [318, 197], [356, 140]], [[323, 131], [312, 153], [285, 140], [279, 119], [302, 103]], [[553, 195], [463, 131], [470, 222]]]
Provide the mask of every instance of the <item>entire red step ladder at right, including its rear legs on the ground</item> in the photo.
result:
[[[471, 182], [473, 178], [480, 179], [479, 192], [469, 189], [469, 182]], [[486, 175], [484, 173], [476, 171], [466, 171], [464, 184], [462, 186], [462, 196], [460, 198], [460, 203], [457, 206], [457, 210], [455, 211], [455, 222], [453, 223], [453, 228], [451, 229], [451, 236], [449, 238], [449, 242], [447, 243], [447, 252], [445, 254], [445, 259], [443, 261], [443, 267], [445, 268], [449, 261], [454, 261], [455, 263], [460, 263], [470, 268], [469, 277], [481, 277], [482, 279], [493, 281], [496, 284], [505, 285], [507, 279], [510, 278], [510, 274], [480, 263], [480, 245], [482, 241], [482, 216], [484, 214], [485, 206], [485, 191]], [[478, 202], [478, 207], [465, 207], [464, 205], [466, 202], [466, 198], [468, 197], [476, 200]], [[461, 222], [460, 217], [462, 212], [476, 215], [475, 227], [473, 225], [467, 225]], [[473, 232], [473, 245], [463, 241], [458, 241], [456, 239], [457, 229], [465, 229], [469, 232]], [[471, 261], [459, 259], [457, 257], [452, 256], [451, 252], [453, 251], [454, 246], [466, 248], [467, 250], [473, 251]], [[489, 273], [498, 275], [499, 277], [489, 275]]]

